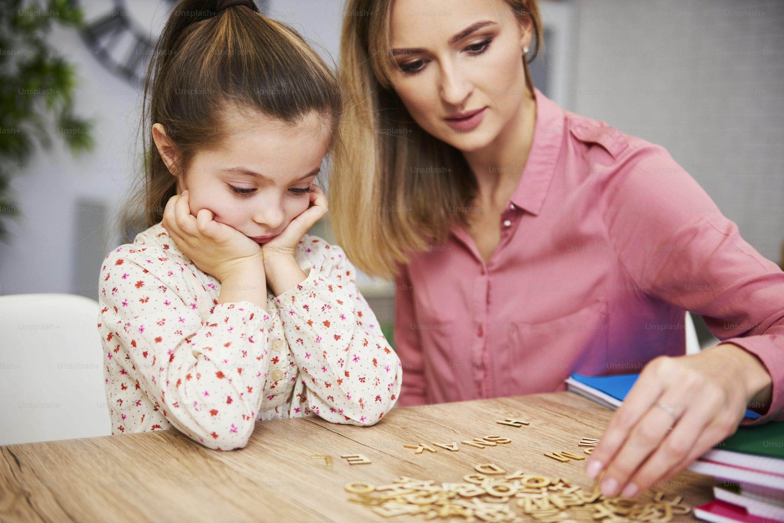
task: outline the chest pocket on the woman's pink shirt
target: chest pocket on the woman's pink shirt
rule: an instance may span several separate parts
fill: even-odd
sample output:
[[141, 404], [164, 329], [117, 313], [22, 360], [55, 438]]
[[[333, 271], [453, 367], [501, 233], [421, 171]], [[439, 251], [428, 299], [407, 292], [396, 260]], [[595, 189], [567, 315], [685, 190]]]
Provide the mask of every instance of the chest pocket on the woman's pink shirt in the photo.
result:
[[[514, 321], [495, 362], [495, 395], [563, 390], [575, 369], [607, 362], [608, 302], [596, 300], [546, 321]], [[607, 373], [607, 372], [596, 372]]]

